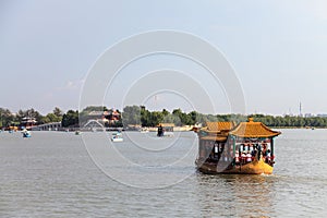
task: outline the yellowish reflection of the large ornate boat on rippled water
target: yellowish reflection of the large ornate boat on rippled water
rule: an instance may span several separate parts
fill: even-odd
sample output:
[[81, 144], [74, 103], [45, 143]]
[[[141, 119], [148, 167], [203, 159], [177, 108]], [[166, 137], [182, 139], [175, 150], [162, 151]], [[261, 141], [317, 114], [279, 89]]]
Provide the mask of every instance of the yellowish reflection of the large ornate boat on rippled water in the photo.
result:
[[276, 217], [275, 175], [197, 173], [201, 217]]

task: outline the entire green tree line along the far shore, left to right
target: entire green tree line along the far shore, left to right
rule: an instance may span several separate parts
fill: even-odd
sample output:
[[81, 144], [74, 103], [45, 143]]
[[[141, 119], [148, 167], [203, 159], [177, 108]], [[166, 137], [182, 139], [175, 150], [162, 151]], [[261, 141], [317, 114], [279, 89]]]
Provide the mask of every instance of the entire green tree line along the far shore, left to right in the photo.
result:
[[[68, 110], [63, 112], [56, 107], [52, 112], [43, 116], [35, 109], [19, 110], [12, 113], [9, 109], [0, 108], [0, 126], [20, 125], [25, 117], [34, 118], [37, 124], [61, 122], [62, 126], [78, 126], [80, 123], [87, 122], [90, 111], [110, 111], [104, 106], [89, 106], [78, 110]], [[119, 111], [120, 112], [120, 111]], [[173, 109], [171, 112], [162, 109], [161, 111], [149, 111], [145, 106], [126, 106], [123, 108], [121, 119], [114, 123], [116, 126], [142, 125], [157, 126], [159, 123], [173, 123], [175, 126], [194, 125], [207, 121], [246, 121], [252, 117], [254, 121], [265, 123], [271, 128], [327, 128], [327, 118], [299, 116], [269, 116], [269, 114], [203, 114], [197, 111], [184, 112], [181, 109]]]

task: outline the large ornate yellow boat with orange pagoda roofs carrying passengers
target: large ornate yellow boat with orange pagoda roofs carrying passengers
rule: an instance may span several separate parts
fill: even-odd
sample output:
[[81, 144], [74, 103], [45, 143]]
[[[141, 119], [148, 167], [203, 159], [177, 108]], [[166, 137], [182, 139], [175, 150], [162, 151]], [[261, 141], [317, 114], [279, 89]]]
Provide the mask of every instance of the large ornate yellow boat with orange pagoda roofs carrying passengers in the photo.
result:
[[272, 131], [262, 122], [207, 122], [197, 131], [195, 165], [203, 173], [271, 174], [275, 164]]

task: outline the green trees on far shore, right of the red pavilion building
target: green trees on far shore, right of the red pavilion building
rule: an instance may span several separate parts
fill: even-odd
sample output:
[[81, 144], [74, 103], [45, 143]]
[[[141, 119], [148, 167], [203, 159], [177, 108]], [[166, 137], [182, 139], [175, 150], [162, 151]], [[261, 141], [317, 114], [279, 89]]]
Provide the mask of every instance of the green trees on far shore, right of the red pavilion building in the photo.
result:
[[269, 114], [203, 114], [197, 111], [183, 112], [181, 109], [174, 109], [172, 112], [162, 109], [162, 111], [149, 111], [144, 106], [126, 106], [122, 113], [122, 123], [124, 125], [134, 124], [142, 126], [156, 126], [159, 123], [173, 123], [177, 126], [194, 125], [197, 123], [217, 122], [217, 121], [246, 121], [252, 117], [254, 121], [263, 122], [271, 128], [327, 128], [327, 118], [299, 116], [269, 116]]

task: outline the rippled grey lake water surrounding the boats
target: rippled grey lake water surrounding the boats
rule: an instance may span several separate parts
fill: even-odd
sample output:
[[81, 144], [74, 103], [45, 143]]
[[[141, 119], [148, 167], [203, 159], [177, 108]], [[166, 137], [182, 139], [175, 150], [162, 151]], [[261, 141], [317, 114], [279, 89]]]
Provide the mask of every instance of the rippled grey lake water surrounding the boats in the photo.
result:
[[[325, 217], [327, 130], [282, 130], [272, 175], [196, 172], [196, 136], [0, 133], [0, 217]], [[92, 158], [90, 158], [92, 157]]]

